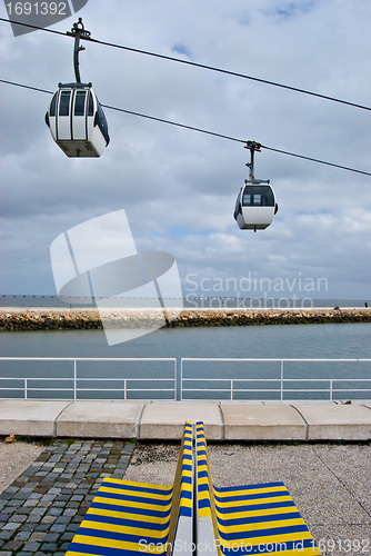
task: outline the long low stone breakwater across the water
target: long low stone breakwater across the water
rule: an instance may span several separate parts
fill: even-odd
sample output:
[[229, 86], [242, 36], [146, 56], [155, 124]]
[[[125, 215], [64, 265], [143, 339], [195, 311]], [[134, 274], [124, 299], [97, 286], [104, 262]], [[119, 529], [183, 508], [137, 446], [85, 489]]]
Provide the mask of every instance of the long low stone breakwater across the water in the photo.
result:
[[0, 310], [0, 331], [371, 322], [371, 309], [14, 309]]

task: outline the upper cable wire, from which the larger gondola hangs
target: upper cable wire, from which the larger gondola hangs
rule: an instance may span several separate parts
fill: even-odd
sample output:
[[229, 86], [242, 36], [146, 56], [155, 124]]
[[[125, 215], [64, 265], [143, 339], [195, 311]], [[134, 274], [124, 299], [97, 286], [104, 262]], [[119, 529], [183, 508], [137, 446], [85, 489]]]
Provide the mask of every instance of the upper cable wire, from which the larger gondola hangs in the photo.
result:
[[[51, 32], [54, 34], [61, 34], [63, 37], [67, 36], [67, 33], [63, 33], [62, 31], [56, 31], [54, 29], [44, 29], [43, 27], [31, 26], [29, 23], [21, 23], [19, 21], [14, 21], [11, 19], [0, 18], [0, 21], [6, 21], [8, 23], [16, 23], [19, 26], [24, 26], [24, 27], [30, 27], [32, 29], [38, 29], [40, 31]], [[271, 85], [273, 87], [280, 87], [281, 89], [288, 89], [288, 90], [291, 90], [294, 92], [301, 92], [303, 95], [310, 95], [311, 97], [318, 97], [321, 99], [331, 100], [332, 102], [340, 102], [341, 105], [352, 106], [355, 108], [361, 108], [362, 110], [370, 110], [371, 111], [371, 107], [358, 105], [355, 102], [350, 102], [348, 100], [338, 99], [335, 97], [329, 97], [327, 95], [321, 95], [319, 92], [308, 91], [305, 89], [300, 89], [299, 87], [291, 87], [289, 85], [278, 83], [275, 81], [269, 81], [268, 79], [260, 79], [258, 77], [247, 76], [244, 73], [239, 73], [237, 71], [230, 71], [230, 70], [225, 70], [225, 69], [221, 69], [221, 68], [215, 68], [214, 66], [208, 66], [205, 63], [198, 63], [198, 62], [192, 62], [190, 60], [182, 60], [181, 58], [176, 58], [173, 56], [159, 54], [157, 52], [151, 52], [149, 50], [141, 50], [139, 48], [126, 47], [123, 44], [116, 44], [114, 42], [107, 42], [103, 40], [92, 39], [91, 37], [89, 37], [89, 38], [83, 37], [83, 39], [89, 40], [89, 42], [96, 42], [97, 44], [102, 44], [102, 46], [111, 47], [111, 48], [118, 48], [120, 50], [128, 50], [130, 52], [137, 52], [140, 54], [151, 56], [153, 58], [161, 58], [163, 60], [170, 60], [173, 62], [184, 63], [186, 66], [193, 66], [195, 68], [202, 68], [202, 69], [207, 69], [210, 71], [217, 71], [219, 73], [224, 73], [227, 76], [233, 76], [233, 77], [239, 77], [242, 79], [249, 79], [251, 81], [258, 81], [259, 83]]]

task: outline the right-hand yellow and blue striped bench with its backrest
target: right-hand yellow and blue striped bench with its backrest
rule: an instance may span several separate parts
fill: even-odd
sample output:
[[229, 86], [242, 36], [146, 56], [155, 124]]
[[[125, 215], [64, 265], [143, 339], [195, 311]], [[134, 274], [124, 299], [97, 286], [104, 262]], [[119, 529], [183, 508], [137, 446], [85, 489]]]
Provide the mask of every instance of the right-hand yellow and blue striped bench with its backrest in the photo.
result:
[[214, 556], [320, 555], [283, 483], [217, 488], [203, 424], [197, 424], [197, 543]]

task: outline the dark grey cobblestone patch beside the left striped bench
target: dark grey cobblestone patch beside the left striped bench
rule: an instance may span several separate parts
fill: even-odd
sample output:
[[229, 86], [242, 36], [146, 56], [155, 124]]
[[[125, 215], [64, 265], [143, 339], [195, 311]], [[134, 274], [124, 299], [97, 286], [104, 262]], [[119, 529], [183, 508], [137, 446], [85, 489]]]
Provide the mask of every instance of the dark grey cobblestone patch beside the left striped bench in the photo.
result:
[[54, 440], [0, 495], [0, 556], [64, 556], [102, 479], [122, 479], [133, 449]]

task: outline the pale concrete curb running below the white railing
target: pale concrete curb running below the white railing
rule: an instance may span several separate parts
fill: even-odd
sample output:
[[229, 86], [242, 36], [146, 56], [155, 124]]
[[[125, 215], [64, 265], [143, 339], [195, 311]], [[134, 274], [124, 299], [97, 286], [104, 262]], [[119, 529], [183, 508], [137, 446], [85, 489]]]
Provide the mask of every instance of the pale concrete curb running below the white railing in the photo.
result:
[[371, 403], [0, 400], [0, 435], [179, 440], [202, 420], [210, 440], [370, 440]]

